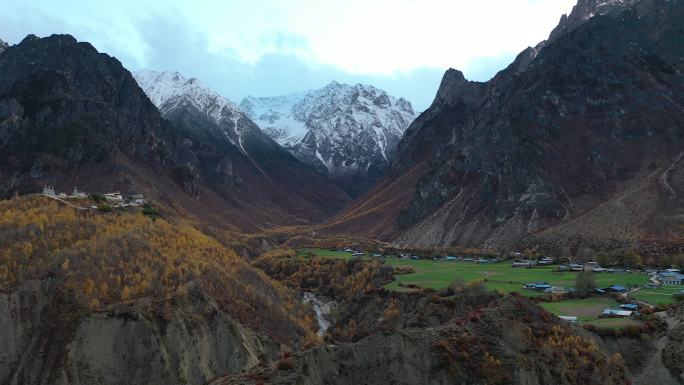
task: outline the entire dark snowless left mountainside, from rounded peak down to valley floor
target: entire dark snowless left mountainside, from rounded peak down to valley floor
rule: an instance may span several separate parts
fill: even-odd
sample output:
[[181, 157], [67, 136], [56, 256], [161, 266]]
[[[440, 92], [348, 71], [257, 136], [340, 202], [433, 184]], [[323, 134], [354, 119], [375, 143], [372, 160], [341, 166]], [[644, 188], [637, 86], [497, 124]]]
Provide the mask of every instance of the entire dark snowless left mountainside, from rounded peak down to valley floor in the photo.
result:
[[71, 36], [30, 35], [0, 56], [0, 197], [44, 184], [144, 192], [240, 229], [321, 220], [348, 199], [275, 143], [252, 141], [264, 144], [259, 163], [224, 145], [200, 112], [169, 117], [178, 126], [115, 58]]

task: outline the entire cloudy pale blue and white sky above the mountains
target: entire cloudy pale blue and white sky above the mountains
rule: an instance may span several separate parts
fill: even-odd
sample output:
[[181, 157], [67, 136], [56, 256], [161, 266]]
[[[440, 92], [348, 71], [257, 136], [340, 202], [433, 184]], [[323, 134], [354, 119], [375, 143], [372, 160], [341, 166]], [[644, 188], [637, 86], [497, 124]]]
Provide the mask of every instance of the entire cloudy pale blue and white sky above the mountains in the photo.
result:
[[178, 70], [239, 102], [370, 83], [432, 101], [444, 71], [487, 80], [576, 0], [2, 0], [0, 39], [69, 33], [131, 69]]

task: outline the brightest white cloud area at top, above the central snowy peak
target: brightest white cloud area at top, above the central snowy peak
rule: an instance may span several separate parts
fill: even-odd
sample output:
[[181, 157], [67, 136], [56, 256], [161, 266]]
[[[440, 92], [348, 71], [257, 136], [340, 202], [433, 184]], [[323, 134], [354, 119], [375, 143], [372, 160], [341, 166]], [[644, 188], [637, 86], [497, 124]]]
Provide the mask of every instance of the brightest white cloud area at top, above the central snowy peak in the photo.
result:
[[[205, 2], [206, 3], [206, 2]], [[290, 0], [178, 4], [210, 48], [295, 54], [352, 73], [463, 68], [545, 39], [575, 0]], [[283, 44], [278, 37], [296, 44]], [[286, 39], [288, 40], [288, 39]]]

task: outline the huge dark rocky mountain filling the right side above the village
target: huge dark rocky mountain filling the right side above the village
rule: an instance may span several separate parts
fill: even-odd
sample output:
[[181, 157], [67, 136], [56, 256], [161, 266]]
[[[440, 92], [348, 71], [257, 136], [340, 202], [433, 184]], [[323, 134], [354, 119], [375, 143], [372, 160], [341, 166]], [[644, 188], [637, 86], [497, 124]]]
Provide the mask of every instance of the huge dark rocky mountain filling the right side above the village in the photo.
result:
[[447, 71], [388, 172], [422, 177], [404, 186], [415, 193], [388, 214], [385, 237], [499, 247], [531, 233], [673, 235], [684, 209], [683, 9], [648, 1], [595, 16], [487, 83]]

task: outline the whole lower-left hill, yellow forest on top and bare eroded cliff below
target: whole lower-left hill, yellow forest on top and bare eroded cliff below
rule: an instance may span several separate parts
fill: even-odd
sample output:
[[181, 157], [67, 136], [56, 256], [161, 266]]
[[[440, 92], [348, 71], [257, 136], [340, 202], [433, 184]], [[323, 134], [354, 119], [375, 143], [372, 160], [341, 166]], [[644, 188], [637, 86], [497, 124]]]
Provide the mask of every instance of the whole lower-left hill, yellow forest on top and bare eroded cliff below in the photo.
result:
[[233, 251], [139, 211], [0, 202], [0, 280], [3, 384], [200, 384], [314, 330]]

